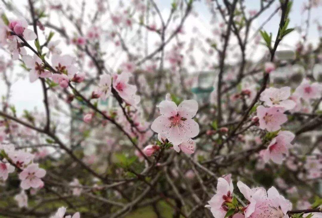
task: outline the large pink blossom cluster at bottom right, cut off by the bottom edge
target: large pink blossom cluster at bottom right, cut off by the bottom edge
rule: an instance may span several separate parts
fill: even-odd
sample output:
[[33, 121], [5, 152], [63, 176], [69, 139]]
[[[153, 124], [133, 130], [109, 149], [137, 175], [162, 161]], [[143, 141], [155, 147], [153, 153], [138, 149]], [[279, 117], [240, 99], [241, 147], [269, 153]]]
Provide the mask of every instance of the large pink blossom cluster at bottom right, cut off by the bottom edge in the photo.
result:
[[[239, 192], [249, 202], [234, 213], [233, 218], [279, 217], [289, 218], [287, 212], [292, 209], [292, 203], [279, 194], [275, 187], [267, 191], [263, 187], [250, 188], [238, 181]], [[234, 187], [231, 175], [218, 178], [217, 193], [210, 199], [206, 207], [210, 207], [215, 218], [224, 218], [229, 206], [233, 203]], [[231, 214], [232, 215], [232, 214]]]

